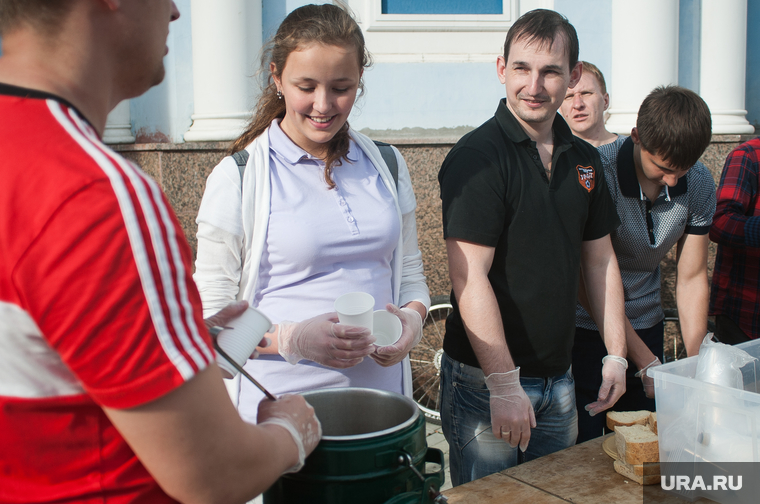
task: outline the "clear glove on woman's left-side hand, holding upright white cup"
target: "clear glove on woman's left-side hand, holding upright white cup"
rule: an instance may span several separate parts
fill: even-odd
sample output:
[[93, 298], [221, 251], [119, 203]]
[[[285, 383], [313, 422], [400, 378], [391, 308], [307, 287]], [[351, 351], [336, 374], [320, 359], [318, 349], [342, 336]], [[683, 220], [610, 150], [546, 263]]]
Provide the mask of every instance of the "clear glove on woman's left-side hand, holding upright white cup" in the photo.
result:
[[364, 327], [337, 322], [337, 313], [317, 315], [303, 322], [280, 322], [280, 355], [291, 364], [301, 359], [337, 369], [359, 364], [374, 350], [375, 337]]

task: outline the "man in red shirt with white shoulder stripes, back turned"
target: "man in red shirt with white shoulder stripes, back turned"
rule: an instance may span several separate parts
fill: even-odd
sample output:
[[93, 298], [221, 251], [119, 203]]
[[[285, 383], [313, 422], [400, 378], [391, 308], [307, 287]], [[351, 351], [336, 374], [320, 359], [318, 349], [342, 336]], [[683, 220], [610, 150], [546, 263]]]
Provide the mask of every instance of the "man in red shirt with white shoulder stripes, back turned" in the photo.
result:
[[0, 502], [245, 502], [319, 439], [301, 397], [240, 419], [177, 218], [100, 139], [162, 80], [178, 16], [0, 0]]

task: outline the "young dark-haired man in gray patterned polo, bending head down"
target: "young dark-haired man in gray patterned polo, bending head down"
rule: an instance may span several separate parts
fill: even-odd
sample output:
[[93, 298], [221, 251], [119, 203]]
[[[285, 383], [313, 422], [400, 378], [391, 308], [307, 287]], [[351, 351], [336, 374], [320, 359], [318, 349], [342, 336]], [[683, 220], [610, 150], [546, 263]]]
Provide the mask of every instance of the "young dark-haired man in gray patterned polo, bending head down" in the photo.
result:
[[[707, 332], [707, 244], [715, 212], [715, 183], [699, 157], [710, 144], [707, 104], [677, 86], [658, 87], [639, 109], [631, 136], [598, 148], [620, 226], [612, 245], [625, 289], [628, 375], [613, 409], [654, 410], [646, 369], [661, 363], [664, 314], [660, 261], [677, 247], [676, 304], [686, 351], [694, 355]], [[581, 410], [596, 398], [606, 354], [581, 288], [573, 348], [578, 442], [604, 432], [604, 415]]]

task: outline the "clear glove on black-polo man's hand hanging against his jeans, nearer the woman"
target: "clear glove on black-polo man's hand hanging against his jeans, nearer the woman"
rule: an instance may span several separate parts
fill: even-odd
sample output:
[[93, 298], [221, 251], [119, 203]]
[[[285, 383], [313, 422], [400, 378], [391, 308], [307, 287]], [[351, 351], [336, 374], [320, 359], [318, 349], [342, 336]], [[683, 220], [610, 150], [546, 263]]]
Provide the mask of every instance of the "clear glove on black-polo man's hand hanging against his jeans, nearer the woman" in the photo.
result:
[[528, 449], [530, 429], [536, 426], [536, 414], [520, 385], [520, 368], [508, 373], [491, 373], [486, 376], [486, 387], [491, 394], [493, 435], [513, 448], [520, 445], [524, 452]]

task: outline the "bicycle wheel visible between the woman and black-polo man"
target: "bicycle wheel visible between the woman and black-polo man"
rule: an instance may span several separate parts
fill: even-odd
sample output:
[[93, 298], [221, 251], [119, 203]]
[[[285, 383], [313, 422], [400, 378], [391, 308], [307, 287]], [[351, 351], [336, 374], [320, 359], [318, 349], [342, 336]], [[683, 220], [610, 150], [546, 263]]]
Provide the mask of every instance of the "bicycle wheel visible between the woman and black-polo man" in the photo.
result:
[[409, 353], [414, 401], [428, 421], [436, 424], [441, 421], [443, 334], [446, 331], [446, 317], [451, 310], [448, 296], [434, 296], [431, 299], [430, 310], [422, 326], [422, 339]]

